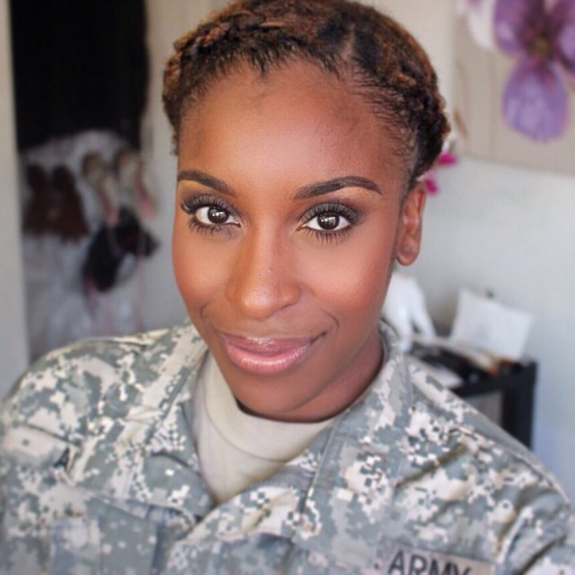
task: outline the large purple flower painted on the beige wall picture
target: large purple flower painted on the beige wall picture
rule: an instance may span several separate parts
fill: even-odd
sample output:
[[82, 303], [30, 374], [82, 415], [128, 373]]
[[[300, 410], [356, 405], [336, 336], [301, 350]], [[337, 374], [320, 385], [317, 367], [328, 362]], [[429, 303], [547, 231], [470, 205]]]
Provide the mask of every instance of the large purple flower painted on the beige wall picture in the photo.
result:
[[533, 140], [564, 133], [569, 83], [575, 83], [575, 0], [548, 4], [497, 0], [494, 11], [496, 43], [516, 60], [503, 90], [503, 116]]

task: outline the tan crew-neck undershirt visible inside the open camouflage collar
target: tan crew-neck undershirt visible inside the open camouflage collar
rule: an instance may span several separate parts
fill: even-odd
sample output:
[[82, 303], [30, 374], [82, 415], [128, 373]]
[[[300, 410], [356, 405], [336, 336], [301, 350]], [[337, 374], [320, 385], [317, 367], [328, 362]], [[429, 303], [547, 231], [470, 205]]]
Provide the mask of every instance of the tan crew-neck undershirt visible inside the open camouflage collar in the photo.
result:
[[212, 356], [198, 378], [192, 410], [202, 475], [217, 503], [273, 475], [332, 422], [285, 423], [246, 414]]

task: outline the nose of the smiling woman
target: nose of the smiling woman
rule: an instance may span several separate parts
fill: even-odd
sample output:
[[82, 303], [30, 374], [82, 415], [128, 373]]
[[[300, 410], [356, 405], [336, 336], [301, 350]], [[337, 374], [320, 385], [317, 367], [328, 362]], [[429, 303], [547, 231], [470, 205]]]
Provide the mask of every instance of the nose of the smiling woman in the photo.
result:
[[243, 316], [264, 320], [295, 304], [301, 295], [288, 241], [260, 234], [246, 237], [226, 285], [226, 298]]

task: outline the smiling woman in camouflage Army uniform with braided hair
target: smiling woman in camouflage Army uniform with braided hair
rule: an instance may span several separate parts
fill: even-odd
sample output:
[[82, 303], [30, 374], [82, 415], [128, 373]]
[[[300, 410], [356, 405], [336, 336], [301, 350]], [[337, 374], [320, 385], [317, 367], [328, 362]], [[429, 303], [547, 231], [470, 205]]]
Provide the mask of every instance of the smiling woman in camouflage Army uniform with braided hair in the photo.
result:
[[358, 4], [240, 0], [175, 48], [191, 323], [25, 375], [4, 570], [569, 572], [560, 487], [379, 323], [447, 132], [419, 45]]

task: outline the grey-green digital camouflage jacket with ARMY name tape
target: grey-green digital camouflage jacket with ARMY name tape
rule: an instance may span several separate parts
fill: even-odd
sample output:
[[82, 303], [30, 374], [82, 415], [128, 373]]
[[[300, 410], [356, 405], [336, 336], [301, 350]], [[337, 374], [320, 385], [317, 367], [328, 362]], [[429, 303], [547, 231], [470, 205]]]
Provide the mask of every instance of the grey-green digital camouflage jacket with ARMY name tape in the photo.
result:
[[560, 487], [382, 337], [370, 390], [219, 506], [189, 431], [207, 353], [189, 323], [50, 353], [1, 415], [1, 572], [573, 573]]

